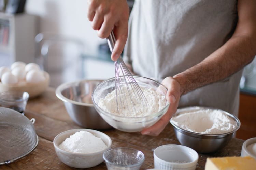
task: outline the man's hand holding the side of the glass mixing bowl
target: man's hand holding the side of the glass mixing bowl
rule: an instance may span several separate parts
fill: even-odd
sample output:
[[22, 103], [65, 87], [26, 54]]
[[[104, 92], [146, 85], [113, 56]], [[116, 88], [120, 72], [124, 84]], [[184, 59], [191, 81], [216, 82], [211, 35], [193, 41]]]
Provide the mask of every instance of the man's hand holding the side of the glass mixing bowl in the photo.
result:
[[156, 122], [153, 126], [143, 129], [141, 131], [141, 134], [143, 135], [159, 135], [165, 128], [165, 126], [169, 123], [172, 115], [177, 111], [181, 97], [181, 86], [179, 82], [177, 82], [172, 77], [167, 77], [163, 79], [162, 84], [165, 85], [168, 89], [166, 94], [166, 100], [170, 102], [170, 106], [168, 108], [167, 113], [163, 115], [158, 122]]

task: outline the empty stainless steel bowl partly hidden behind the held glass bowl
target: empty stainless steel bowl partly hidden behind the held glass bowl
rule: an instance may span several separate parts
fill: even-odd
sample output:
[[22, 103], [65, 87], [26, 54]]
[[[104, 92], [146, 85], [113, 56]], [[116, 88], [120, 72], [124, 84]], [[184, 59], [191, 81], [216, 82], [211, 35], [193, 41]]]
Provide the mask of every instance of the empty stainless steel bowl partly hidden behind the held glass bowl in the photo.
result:
[[64, 102], [71, 119], [78, 125], [89, 129], [109, 129], [94, 108], [91, 95], [102, 80], [79, 80], [63, 83], [56, 89], [56, 96]]

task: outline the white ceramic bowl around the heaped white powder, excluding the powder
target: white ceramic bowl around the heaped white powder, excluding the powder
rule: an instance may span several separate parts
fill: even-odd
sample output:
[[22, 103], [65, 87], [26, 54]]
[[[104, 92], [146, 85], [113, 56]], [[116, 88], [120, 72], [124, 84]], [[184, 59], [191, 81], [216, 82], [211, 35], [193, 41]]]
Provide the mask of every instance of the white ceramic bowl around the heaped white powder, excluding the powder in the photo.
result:
[[[70, 137], [70, 135], [79, 131], [87, 131], [92, 133], [94, 136], [101, 138], [107, 147], [104, 150], [94, 153], [74, 153], [59, 148], [60, 143]], [[53, 140], [53, 145], [58, 158], [64, 164], [74, 168], [90, 168], [103, 162], [103, 153], [111, 148], [112, 140], [108, 135], [100, 131], [92, 129], [71, 129], [58, 134]]]

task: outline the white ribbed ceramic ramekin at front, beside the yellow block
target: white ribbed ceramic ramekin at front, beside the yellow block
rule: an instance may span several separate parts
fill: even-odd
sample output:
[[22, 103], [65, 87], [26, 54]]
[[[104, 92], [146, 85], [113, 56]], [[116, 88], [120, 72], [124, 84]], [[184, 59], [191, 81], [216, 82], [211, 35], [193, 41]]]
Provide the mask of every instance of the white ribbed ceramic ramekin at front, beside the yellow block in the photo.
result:
[[155, 168], [169, 170], [195, 170], [198, 153], [183, 145], [162, 145], [154, 150]]

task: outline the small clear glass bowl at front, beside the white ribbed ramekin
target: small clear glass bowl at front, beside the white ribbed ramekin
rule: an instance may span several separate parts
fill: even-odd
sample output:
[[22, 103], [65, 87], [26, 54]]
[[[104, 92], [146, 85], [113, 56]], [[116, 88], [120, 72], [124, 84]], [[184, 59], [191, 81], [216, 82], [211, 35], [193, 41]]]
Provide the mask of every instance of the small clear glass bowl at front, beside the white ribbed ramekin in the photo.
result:
[[144, 154], [133, 148], [113, 148], [103, 153], [108, 170], [138, 170], [145, 160]]

